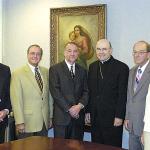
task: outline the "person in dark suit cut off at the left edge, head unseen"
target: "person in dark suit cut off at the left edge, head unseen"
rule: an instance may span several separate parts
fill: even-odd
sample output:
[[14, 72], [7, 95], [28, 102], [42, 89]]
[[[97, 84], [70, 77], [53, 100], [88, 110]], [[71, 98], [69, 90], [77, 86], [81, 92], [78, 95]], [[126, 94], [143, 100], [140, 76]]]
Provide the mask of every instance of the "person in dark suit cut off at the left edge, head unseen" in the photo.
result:
[[0, 64], [0, 143], [4, 142], [10, 104], [10, 69]]

